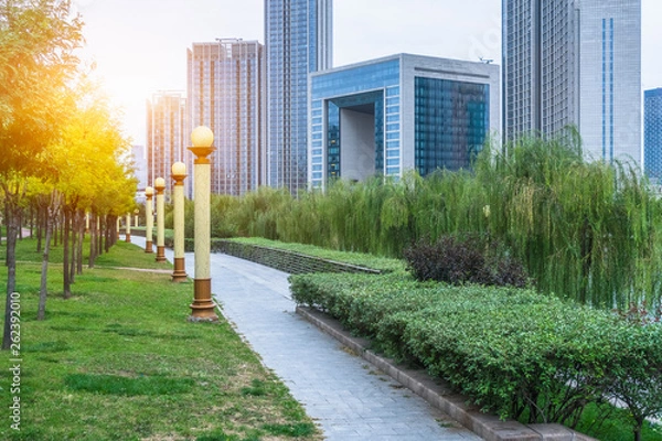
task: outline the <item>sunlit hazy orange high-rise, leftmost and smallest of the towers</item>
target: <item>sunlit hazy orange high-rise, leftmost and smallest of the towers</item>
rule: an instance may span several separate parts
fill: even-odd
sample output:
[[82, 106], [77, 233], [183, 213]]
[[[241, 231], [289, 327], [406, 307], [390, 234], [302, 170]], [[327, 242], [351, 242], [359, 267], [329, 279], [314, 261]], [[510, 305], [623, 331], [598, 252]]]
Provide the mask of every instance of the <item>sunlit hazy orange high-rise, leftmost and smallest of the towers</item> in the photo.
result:
[[186, 99], [181, 92], [159, 92], [147, 101], [147, 185], [166, 180], [171, 194], [171, 168], [183, 161]]

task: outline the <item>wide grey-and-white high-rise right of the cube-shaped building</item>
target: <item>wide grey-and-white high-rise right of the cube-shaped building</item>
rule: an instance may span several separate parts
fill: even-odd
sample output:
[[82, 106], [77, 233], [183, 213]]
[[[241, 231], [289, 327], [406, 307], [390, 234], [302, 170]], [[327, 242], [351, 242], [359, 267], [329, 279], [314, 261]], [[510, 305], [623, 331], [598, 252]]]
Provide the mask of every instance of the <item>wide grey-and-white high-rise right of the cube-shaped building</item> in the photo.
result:
[[579, 130], [641, 163], [641, 0], [503, 0], [504, 138]]

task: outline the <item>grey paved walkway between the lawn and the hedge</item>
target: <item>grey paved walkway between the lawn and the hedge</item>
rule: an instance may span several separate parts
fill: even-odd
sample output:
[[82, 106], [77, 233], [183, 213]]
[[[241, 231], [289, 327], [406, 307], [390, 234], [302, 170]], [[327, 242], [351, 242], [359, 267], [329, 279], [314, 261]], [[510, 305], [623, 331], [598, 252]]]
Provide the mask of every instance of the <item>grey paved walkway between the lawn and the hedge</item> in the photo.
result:
[[[145, 238], [131, 240], [145, 247]], [[172, 260], [171, 250], [166, 256]], [[193, 255], [185, 258], [192, 278]], [[222, 254], [211, 256], [211, 268], [223, 315], [289, 387], [327, 440], [481, 439], [297, 315], [287, 273]]]

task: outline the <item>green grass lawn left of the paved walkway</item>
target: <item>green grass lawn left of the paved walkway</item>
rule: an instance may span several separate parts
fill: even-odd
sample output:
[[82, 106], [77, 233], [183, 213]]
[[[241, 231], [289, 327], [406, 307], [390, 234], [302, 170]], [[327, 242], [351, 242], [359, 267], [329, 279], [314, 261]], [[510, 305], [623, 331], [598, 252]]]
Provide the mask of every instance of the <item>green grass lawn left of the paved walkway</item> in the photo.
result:
[[[29, 262], [39, 257], [35, 241], [19, 247], [20, 392], [12, 391], [13, 356], [0, 353], [0, 439], [321, 439], [227, 322], [186, 321], [191, 282], [114, 269], [171, 268], [156, 265], [154, 255], [118, 243], [76, 278], [70, 300], [61, 295], [62, 266], [53, 265], [47, 319], [38, 322], [41, 267]], [[0, 283], [6, 280], [2, 270]], [[20, 431], [10, 426], [13, 397], [20, 398]]]

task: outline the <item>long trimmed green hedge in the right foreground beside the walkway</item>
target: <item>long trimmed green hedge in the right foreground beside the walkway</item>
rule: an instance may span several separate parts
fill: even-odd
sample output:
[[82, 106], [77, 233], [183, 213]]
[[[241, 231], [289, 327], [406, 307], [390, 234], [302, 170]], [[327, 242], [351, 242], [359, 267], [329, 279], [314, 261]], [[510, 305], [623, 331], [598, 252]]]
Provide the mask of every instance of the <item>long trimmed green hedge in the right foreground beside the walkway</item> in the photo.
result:
[[292, 276], [293, 299], [425, 366], [485, 411], [574, 427], [618, 398], [636, 426], [662, 415], [662, 325], [640, 326], [530, 290], [419, 283], [402, 273]]

